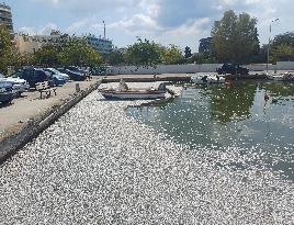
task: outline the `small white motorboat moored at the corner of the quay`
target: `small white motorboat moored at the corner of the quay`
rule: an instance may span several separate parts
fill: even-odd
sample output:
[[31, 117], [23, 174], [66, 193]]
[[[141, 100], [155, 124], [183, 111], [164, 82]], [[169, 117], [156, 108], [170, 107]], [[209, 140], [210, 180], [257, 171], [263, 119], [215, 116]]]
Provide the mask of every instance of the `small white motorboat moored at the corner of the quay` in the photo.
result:
[[140, 100], [140, 99], [165, 99], [167, 90], [163, 83], [161, 83], [157, 90], [156, 89], [131, 90], [128, 89], [124, 80], [121, 80], [117, 90], [102, 89], [99, 90], [99, 92], [105, 99]]

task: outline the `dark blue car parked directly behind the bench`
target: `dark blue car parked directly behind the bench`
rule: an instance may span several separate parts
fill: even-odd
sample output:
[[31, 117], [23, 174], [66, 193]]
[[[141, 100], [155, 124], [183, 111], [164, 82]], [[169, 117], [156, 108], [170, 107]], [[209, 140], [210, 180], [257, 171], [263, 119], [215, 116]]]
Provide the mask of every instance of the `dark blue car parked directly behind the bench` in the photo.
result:
[[44, 81], [49, 81], [49, 86], [54, 86], [52, 76], [47, 71], [44, 71], [43, 69], [38, 68], [24, 68], [14, 72], [12, 77], [19, 77], [21, 79], [26, 80], [32, 88], [35, 88], [37, 82]]

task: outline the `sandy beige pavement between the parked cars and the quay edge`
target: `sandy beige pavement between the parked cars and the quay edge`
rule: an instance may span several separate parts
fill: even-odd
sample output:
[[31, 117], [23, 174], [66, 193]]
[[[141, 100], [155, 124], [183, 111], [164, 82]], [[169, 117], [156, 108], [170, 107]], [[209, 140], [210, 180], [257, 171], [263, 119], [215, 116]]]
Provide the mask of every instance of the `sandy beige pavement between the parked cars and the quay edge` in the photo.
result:
[[[30, 120], [44, 114], [50, 108], [63, 104], [67, 99], [76, 93], [76, 83], [79, 83], [81, 90], [86, 90], [101, 77], [94, 77], [91, 81], [70, 81], [63, 87], [57, 87], [56, 95], [54, 93], [48, 98], [39, 98], [39, 92], [31, 89], [15, 98], [11, 104], [0, 104], [0, 140], [18, 132]], [[46, 94], [45, 94], [46, 95]]]

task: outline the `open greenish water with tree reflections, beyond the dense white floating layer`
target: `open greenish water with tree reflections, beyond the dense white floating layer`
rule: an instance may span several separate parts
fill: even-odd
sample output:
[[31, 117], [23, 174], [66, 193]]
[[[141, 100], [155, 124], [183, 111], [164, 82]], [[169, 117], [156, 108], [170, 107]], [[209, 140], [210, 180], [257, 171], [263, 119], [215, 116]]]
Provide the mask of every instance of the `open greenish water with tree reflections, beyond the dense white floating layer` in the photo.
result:
[[259, 154], [262, 164], [294, 180], [294, 83], [190, 85], [179, 98], [127, 113], [192, 148], [233, 146]]

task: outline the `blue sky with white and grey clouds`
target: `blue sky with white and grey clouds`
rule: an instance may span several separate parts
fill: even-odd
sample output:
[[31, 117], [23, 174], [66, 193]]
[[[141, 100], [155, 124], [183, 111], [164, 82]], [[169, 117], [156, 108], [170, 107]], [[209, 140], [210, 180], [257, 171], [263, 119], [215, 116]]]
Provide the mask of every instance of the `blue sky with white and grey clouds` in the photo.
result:
[[294, 0], [2, 0], [12, 8], [14, 32], [103, 36], [126, 47], [137, 37], [197, 52], [199, 40], [211, 35], [226, 10], [258, 19], [261, 44], [270, 36], [294, 31]]

